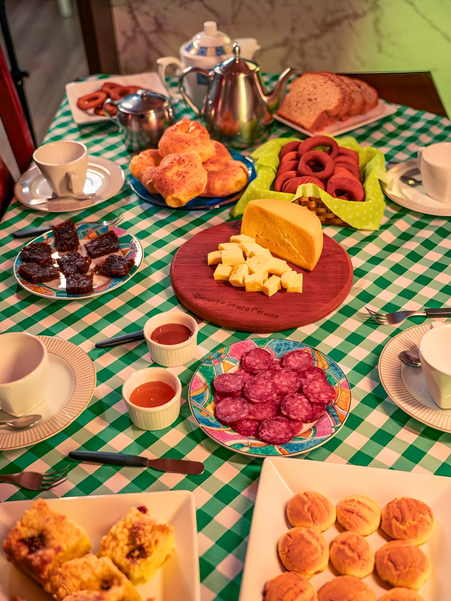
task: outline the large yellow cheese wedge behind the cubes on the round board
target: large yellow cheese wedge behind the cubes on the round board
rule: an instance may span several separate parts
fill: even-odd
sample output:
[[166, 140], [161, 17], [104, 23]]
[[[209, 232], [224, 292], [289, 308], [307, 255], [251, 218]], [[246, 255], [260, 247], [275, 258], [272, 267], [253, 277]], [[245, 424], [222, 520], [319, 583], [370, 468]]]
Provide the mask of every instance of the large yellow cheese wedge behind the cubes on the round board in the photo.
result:
[[254, 237], [273, 254], [304, 269], [313, 269], [321, 256], [321, 221], [298, 204], [251, 200], [243, 215], [241, 233]]

